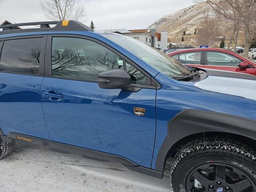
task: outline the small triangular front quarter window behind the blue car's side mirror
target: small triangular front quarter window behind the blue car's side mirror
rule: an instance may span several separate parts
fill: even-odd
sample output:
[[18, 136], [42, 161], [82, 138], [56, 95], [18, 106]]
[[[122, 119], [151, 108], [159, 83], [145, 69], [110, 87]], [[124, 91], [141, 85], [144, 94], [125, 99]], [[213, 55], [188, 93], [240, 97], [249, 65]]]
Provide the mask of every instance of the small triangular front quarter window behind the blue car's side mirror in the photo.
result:
[[131, 76], [131, 83], [133, 84], [147, 84], [147, 78], [139, 70], [126, 62], [126, 71]]

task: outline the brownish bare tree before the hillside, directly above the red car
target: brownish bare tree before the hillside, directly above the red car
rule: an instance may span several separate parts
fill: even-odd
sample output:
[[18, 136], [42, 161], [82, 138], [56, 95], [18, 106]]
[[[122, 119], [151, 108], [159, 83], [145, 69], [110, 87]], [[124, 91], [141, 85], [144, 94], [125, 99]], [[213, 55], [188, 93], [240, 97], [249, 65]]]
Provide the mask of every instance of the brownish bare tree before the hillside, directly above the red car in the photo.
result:
[[220, 18], [218, 15], [212, 15], [210, 12], [204, 14], [204, 20], [200, 23], [198, 28], [196, 42], [199, 45], [213, 46], [219, 42], [218, 36], [221, 35], [219, 31]]

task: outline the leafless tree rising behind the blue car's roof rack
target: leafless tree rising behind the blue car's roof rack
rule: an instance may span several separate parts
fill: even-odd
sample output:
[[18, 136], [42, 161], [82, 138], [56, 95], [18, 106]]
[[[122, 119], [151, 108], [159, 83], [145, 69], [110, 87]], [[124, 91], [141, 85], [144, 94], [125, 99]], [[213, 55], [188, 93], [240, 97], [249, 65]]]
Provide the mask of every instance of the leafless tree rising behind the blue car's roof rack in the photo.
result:
[[50, 20], [86, 21], [85, 7], [76, 0], [40, 0], [40, 4], [44, 15]]

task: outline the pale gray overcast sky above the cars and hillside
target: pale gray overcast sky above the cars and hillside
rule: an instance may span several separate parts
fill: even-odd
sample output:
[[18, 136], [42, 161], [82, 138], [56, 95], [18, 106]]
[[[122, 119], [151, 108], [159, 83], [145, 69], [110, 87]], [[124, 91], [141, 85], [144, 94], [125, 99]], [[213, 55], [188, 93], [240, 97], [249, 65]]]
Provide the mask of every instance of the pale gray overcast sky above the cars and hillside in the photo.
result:
[[[142, 29], [166, 14], [192, 5], [192, 0], [78, 0], [96, 29]], [[39, 0], [0, 0], [0, 24], [47, 21]]]

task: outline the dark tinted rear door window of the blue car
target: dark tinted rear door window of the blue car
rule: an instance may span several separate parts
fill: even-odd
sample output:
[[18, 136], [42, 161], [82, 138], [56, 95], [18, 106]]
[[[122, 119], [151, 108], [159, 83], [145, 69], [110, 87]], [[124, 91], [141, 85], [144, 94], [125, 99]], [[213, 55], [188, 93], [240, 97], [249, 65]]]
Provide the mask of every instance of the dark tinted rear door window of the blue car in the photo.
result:
[[0, 71], [38, 74], [42, 38], [16, 39], [4, 42]]

